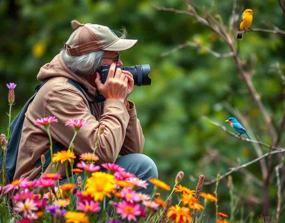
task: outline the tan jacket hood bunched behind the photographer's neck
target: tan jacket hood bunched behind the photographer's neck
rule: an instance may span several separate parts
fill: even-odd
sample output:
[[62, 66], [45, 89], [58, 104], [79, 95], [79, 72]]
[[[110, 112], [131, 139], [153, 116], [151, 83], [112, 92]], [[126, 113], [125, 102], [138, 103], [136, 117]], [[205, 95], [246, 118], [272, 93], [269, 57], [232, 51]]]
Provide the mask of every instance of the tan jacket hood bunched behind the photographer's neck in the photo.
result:
[[94, 97], [96, 95], [96, 87], [92, 86], [83, 76], [78, 76], [77, 74], [71, 72], [66, 67], [61, 54], [62, 52], [57, 54], [51, 62], [46, 63], [40, 68], [37, 75], [38, 81], [43, 81], [45, 78], [52, 76], [66, 77], [87, 86], [88, 94]]

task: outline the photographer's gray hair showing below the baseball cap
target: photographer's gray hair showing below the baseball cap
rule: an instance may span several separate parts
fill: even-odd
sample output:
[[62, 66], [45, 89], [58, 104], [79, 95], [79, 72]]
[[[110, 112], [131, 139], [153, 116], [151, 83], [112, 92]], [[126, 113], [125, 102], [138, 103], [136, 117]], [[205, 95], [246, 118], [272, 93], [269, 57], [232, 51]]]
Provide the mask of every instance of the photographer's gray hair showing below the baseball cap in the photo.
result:
[[[121, 36], [119, 38], [127, 37], [125, 28], [116, 32]], [[62, 49], [62, 59], [66, 67], [78, 76], [94, 74], [96, 69], [101, 66], [103, 54], [104, 50], [97, 50], [80, 56], [69, 56], [66, 49]]]

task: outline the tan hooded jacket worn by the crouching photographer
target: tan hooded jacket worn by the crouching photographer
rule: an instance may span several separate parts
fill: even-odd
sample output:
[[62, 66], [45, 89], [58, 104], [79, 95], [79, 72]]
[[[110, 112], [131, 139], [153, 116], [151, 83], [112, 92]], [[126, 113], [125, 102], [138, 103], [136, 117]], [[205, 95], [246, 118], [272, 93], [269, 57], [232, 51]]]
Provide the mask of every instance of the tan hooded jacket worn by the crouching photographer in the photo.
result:
[[[113, 163], [118, 154], [142, 153], [144, 136], [133, 102], [129, 101], [129, 110], [117, 99], [107, 99], [102, 102], [101, 109], [100, 103], [94, 103], [93, 116], [83, 94], [67, 83], [67, 78], [88, 86], [87, 93], [90, 100], [96, 94], [96, 88], [84, 77], [72, 73], [62, 60], [61, 53], [50, 63], [42, 66], [37, 79], [42, 81], [50, 76], [55, 77], [42, 86], [25, 114], [14, 179], [19, 179], [21, 176], [34, 179], [41, 170], [41, 167], [35, 167], [35, 163], [42, 154], [49, 151], [46, 130], [43, 126], [34, 125], [37, 118], [49, 116], [58, 118], [58, 123], [51, 124], [50, 134], [53, 144], [60, 142], [65, 147], [69, 146], [74, 134], [73, 128], [65, 126], [65, 122], [69, 118], [86, 121], [90, 127], [81, 128], [74, 140], [74, 152], [77, 157], [82, 153], [93, 152], [99, 126], [105, 125], [105, 131], [96, 149], [96, 154], [99, 156], [97, 164]], [[45, 173], [52, 173], [52, 163]], [[59, 166], [58, 173], [62, 177], [65, 176], [63, 165]]]

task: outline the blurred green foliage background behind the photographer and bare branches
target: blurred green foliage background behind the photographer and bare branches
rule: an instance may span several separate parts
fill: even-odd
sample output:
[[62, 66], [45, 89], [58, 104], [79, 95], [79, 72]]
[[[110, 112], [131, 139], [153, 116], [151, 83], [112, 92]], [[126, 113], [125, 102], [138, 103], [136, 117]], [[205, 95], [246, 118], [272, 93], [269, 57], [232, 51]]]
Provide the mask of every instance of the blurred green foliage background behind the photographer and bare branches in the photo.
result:
[[[224, 23], [229, 23], [232, 1], [195, 2], [199, 7], [211, 7], [213, 14], [220, 14]], [[211, 2], [215, 4], [211, 6]], [[201, 48], [194, 47], [161, 56], [161, 53], [186, 41], [199, 41], [221, 53], [229, 52], [227, 45], [194, 18], [158, 11], [152, 7], [153, 4], [186, 9], [182, 0], [1, 1], [1, 133], [6, 133], [8, 125], [6, 83], [17, 83], [16, 104], [12, 110], [14, 118], [39, 83], [36, 79], [39, 68], [60, 52], [63, 41], [72, 33], [70, 21], [77, 19], [80, 23], [101, 24], [115, 30], [125, 26], [129, 38], [138, 39], [138, 44], [123, 52], [121, 58], [124, 66], [151, 66], [151, 86], [136, 87], [130, 100], [136, 105], [145, 135], [144, 153], [155, 161], [161, 180], [173, 185], [176, 173], [181, 170], [185, 172], [182, 185], [194, 189], [200, 174], [204, 174], [208, 181], [215, 178], [218, 171], [223, 174], [232, 167], [211, 157], [209, 150], [218, 150], [235, 162], [239, 159], [241, 163], [245, 163], [256, 158], [251, 144], [229, 137], [226, 132], [201, 118], [205, 115], [213, 121], [227, 124], [224, 124], [224, 120], [232, 116], [224, 107], [227, 102], [248, 118], [258, 139], [272, 143], [257, 106], [238, 74], [234, 60], [218, 59]], [[268, 22], [281, 29], [285, 28], [278, 1], [238, 0], [238, 12], [246, 8], [254, 10], [252, 28], [268, 28]], [[275, 125], [280, 123], [284, 112], [284, 84], [274, 66], [279, 62], [285, 70], [283, 50], [284, 36], [278, 34], [245, 33], [240, 41], [240, 57], [245, 60], [246, 66], [256, 60], [253, 84]], [[284, 137], [281, 140], [282, 145], [284, 146]], [[259, 163], [247, 169], [262, 179]], [[235, 194], [241, 198], [238, 210], [245, 206], [245, 217], [254, 211], [252, 213], [256, 219], [262, 208], [259, 204], [251, 203], [249, 198], [262, 203], [262, 190], [240, 172], [232, 176]], [[229, 213], [229, 190], [226, 185], [227, 181], [224, 179], [218, 188], [219, 210]], [[205, 186], [204, 192], [213, 193], [214, 188], [215, 185]], [[268, 201], [272, 204], [271, 216], [276, 213], [276, 192], [275, 180], [270, 190], [271, 200]], [[211, 214], [210, 219], [214, 212], [214, 205], [211, 204], [208, 212], [206, 211]], [[239, 216], [240, 212], [237, 219]], [[285, 214], [281, 214], [281, 219], [285, 219]]]

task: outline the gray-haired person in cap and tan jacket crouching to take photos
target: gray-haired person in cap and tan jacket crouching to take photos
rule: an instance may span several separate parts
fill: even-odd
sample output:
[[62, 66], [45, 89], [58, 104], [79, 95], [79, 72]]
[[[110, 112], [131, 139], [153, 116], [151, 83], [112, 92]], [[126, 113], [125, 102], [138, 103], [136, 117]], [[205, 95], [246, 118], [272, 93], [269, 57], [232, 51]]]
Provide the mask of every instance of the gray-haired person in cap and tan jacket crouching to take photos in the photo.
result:
[[[129, 71], [115, 70], [115, 66], [123, 65], [120, 51], [133, 47], [137, 40], [124, 39], [124, 34], [118, 38], [106, 26], [80, 24], [76, 20], [71, 23], [75, 31], [64, 42], [64, 49], [42, 66], [37, 75], [39, 81], [50, 79], [39, 89], [25, 114], [14, 179], [40, 177], [41, 166], [37, 163], [42, 154], [49, 152], [49, 138], [45, 128], [34, 125], [34, 122], [37, 118], [49, 116], [58, 119], [50, 126], [53, 146], [68, 147], [74, 130], [65, 126], [65, 122], [69, 118], [80, 119], [89, 127], [81, 128], [77, 133], [74, 152], [77, 158], [82, 153], [92, 153], [99, 127], [104, 125], [105, 130], [95, 151], [99, 156], [96, 164], [116, 163], [140, 179], [157, 178], [155, 163], [141, 154], [144, 136], [134, 103], [127, 100], [133, 91], [133, 76]], [[105, 84], [98, 73], [103, 64], [110, 65]], [[79, 83], [83, 92], [69, 80]], [[99, 102], [102, 96], [105, 100]], [[96, 100], [98, 102], [92, 103], [90, 109], [90, 101]], [[121, 157], [117, 158], [118, 155]], [[77, 162], [78, 159], [74, 166]], [[44, 173], [52, 173], [52, 162]], [[60, 183], [66, 183], [64, 165], [59, 164], [58, 173], [63, 178]], [[84, 175], [80, 175], [83, 179]], [[149, 184], [147, 189], [140, 191], [151, 194], [152, 190], [153, 185]]]

